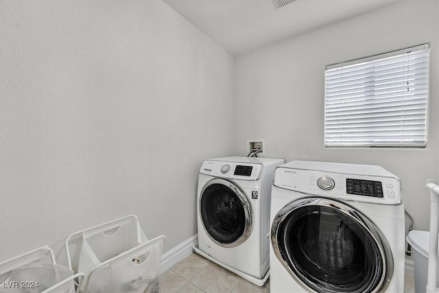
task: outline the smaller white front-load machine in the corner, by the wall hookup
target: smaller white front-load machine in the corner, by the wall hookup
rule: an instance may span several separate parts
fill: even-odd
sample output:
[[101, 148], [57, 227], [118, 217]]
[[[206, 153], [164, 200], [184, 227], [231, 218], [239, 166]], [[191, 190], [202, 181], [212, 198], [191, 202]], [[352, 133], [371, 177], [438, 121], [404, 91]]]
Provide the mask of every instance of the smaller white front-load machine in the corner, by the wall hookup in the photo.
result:
[[270, 195], [283, 159], [226, 157], [202, 163], [195, 252], [263, 285], [270, 266]]

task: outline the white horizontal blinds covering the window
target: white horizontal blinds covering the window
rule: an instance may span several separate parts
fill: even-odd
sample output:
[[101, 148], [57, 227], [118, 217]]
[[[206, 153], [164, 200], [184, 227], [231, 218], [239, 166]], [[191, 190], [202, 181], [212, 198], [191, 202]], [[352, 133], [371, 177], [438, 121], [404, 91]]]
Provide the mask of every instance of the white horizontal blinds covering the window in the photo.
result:
[[324, 145], [425, 147], [429, 45], [330, 65]]

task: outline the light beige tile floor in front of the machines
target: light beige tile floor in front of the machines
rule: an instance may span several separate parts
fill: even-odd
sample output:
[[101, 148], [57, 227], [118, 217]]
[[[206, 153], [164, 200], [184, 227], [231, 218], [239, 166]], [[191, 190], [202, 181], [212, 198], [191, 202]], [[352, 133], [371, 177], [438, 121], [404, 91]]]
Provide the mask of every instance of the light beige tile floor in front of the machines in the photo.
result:
[[[414, 292], [413, 278], [413, 272], [406, 270], [404, 293]], [[270, 292], [270, 280], [259, 287], [195, 253], [164, 272], [160, 282], [161, 293]]]

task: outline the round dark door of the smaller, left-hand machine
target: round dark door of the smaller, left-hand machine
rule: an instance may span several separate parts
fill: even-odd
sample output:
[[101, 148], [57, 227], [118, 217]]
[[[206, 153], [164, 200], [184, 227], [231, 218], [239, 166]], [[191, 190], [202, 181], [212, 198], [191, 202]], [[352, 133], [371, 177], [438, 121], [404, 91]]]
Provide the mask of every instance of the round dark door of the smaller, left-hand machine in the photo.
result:
[[235, 183], [215, 178], [204, 185], [200, 215], [207, 235], [222, 247], [246, 241], [252, 231], [252, 209], [244, 191]]

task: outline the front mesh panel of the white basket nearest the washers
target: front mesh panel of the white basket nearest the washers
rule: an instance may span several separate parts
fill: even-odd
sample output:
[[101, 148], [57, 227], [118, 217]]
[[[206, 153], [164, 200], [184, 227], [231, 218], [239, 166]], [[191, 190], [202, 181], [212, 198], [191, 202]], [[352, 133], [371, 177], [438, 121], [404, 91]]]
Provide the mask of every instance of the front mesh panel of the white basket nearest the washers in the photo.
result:
[[105, 261], [88, 274], [89, 293], [158, 293], [164, 236]]

